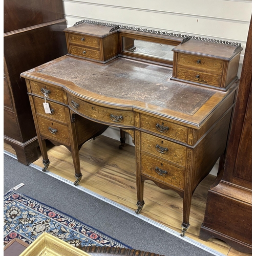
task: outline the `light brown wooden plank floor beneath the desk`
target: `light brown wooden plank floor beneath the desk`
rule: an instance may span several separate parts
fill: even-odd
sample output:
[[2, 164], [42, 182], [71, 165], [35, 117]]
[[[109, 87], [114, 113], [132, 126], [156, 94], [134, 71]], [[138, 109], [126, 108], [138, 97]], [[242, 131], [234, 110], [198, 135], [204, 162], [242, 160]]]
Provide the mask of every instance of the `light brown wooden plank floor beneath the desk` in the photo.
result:
[[[137, 209], [135, 147], [129, 144], [120, 150], [120, 142], [100, 135], [95, 140], [83, 144], [80, 149], [82, 179], [79, 186], [86, 188], [99, 197], [121, 205], [127, 211]], [[13, 148], [4, 143], [4, 150], [16, 154]], [[44, 167], [40, 157], [33, 164]], [[48, 143], [49, 172], [74, 182], [74, 167], [71, 153], [65, 146], [53, 146]], [[197, 187], [192, 198], [190, 227], [185, 233], [187, 239], [202, 247], [217, 251], [227, 256], [251, 255], [230, 248], [225, 242], [211, 239], [207, 242], [199, 239], [200, 226], [203, 222], [207, 190], [214, 182], [215, 176], [208, 175]], [[182, 223], [182, 198], [172, 190], [164, 190], [151, 181], [144, 184], [145, 205], [140, 217], [156, 225], [179, 234]], [[136, 215], [136, 214], [135, 214]]]

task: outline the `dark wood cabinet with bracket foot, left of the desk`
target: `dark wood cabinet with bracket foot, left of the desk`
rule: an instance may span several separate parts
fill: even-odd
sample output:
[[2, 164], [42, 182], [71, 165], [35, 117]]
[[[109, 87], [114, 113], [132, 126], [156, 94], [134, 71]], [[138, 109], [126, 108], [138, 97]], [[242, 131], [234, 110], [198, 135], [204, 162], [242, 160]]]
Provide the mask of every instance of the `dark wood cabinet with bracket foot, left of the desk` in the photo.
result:
[[4, 1], [4, 141], [19, 162], [38, 159], [38, 141], [20, 73], [67, 54], [61, 0]]

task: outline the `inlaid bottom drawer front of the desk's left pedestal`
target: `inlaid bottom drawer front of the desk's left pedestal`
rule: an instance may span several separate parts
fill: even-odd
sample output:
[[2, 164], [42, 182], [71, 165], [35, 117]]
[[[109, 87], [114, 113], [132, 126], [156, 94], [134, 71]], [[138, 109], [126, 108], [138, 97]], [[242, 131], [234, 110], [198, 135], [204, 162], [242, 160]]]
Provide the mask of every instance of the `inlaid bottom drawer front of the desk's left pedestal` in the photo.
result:
[[68, 126], [37, 117], [40, 134], [65, 144], [70, 144]]

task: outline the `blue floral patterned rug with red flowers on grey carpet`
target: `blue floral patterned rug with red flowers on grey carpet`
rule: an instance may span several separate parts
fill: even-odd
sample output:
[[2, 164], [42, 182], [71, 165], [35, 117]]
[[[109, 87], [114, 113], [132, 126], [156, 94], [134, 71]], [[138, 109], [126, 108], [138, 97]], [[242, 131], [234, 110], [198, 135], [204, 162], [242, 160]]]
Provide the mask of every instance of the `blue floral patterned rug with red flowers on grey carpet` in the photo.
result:
[[131, 248], [17, 191], [9, 191], [4, 195], [4, 246], [14, 238], [31, 244], [42, 232], [51, 233], [76, 247]]

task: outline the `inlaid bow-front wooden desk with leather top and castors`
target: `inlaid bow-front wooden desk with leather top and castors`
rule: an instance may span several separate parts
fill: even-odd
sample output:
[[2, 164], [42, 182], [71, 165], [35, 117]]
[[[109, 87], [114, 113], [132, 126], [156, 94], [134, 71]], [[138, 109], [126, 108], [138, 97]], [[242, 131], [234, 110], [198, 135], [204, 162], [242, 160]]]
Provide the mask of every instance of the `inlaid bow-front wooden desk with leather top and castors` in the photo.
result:
[[[121, 52], [129, 44], [134, 47], [133, 41], [127, 39], [127, 31], [126, 40], [122, 40], [121, 46], [114, 47], [113, 52], [118, 51], [114, 58], [110, 54], [110, 59], [106, 60], [101, 53], [99, 56], [103, 56], [102, 59], [94, 54], [83, 56], [90, 50], [95, 51], [95, 46], [90, 46], [90, 40], [85, 50], [84, 46], [80, 46], [81, 42], [88, 42], [87, 39], [79, 39], [83, 38], [81, 31], [86, 26], [81, 24], [78, 28], [74, 26], [65, 31], [69, 54], [21, 75], [26, 79], [45, 165], [43, 170], [50, 168], [45, 140], [65, 145], [72, 153], [76, 177], [74, 184], [77, 185], [81, 180], [79, 149], [82, 144], [102, 134], [109, 126], [119, 127], [132, 136], [135, 144], [136, 213], [139, 214], [144, 205], [144, 180], [152, 180], [163, 189], [173, 189], [183, 198], [181, 236], [184, 236], [189, 226], [194, 190], [225, 153], [239, 84], [237, 69], [233, 72], [235, 75], [227, 75], [232, 73], [228, 71], [229, 63], [209, 58], [211, 62], [207, 65], [219, 69], [209, 75], [204, 70], [208, 66], [202, 65], [207, 62], [207, 56], [200, 57], [201, 63], [198, 63], [197, 57], [198, 68], [191, 60], [195, 53], [189, 56], [180, 53], [180, 48], [189, 48], [188, 42], [197, 44], [196, 40], [188, 40], [183, 46], [179, 38], [173, 48], [172, 65], [145, 60], [141, 56], [136, 59], [132, 56], [134, 53], [129, 53], [129, 56]], [[105, 29], [105, 26], [102, 27]], [[122, 33], [124, 31], [116, 30], [111, 35], [118, 41]], [[138, 33], [132, 36], [138, 36]], [[100, 44], [106, 44], [104, 38], [99, 38]], [[100, 46], [98, 50], [104, 51], [104, 47]], [[75, 50], [71, 50], [72, 47]], [[77, 51], [79, 47], [81, 51]], [[240, 55], [240, 51], [233, 54], [233, 46], [221, 47], [232, 48], [232, 56]], [[95, 56], [96, 61], [90, 59]], [[187, 66], [182, 64], [186, 60]], [[239, 61], [234, 62], [238, 66]], [[193, 72], [195, 75], [191, 75]], [[203, 80], [199, 79], [199, 75]], [[206, 76], [214, 77], [207, 80], [209, 84], [205, 84]], [[229, 82], [225, 82], [228, 76]], [[48, 103], [48, 111], [44, 103]]]

